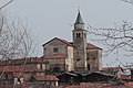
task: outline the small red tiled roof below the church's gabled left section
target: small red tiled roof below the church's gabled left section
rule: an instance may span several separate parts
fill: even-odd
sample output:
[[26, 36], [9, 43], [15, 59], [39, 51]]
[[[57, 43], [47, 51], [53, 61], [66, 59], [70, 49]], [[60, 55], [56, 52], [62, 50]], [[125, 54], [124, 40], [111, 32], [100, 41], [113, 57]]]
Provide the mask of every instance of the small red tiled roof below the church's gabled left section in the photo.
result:
[[37, 80], [59, 80], [54, 75], [40, 75], [34, 76]]

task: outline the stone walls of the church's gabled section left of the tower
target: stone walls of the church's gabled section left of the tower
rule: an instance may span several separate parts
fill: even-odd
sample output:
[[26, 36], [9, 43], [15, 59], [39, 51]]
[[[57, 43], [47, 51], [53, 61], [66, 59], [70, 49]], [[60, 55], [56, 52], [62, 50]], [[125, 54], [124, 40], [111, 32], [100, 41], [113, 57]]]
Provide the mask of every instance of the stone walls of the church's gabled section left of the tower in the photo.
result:
[[[57, 48], [57, 52], [54, 51]], [[48, 68], [52, 69], [53, 66], [59, 65], [62, 70], [73, 70], [73, 47], [66, 45], [58, 38], [50, 41], [43, 46], [44, 57], [51, 57], [47, 59], [49, 62]], [[61, 54], [65, 58], [52, 58], [53, 55]], [[52, 68], [51, 68], [52, 67]]]

